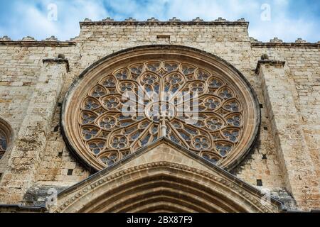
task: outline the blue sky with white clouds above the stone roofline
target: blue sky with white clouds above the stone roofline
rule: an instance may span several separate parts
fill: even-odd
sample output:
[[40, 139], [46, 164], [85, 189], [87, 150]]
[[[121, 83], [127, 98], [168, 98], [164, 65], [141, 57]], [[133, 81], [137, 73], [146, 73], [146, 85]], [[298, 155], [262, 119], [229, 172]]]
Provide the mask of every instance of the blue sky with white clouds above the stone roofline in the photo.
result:
[[[50, 4], [57, 6], [57, 20], [48, 19], [48, 14], [55, 15], [48, 10]], [[43, 40], [55, 35], [69, 40], [79, 34], [78, 22], [85, 18], [190, 21], [198, 16], [206, 21], [245, 18], [250, 21], [250, 36], [261, 41], [274, 37], [287, 42], [320, 40], [319, 0], [0, 0], [0, 37], [18, 40], [30, 35]]]

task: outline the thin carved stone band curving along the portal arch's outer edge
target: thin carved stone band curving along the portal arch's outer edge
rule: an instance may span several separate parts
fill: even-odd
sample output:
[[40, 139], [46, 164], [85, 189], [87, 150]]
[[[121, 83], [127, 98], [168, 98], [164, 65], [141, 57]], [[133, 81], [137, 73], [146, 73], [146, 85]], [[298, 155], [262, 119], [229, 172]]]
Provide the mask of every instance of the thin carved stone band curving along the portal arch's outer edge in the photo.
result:
[[193, 175], [200, 175], [199, 178], [206, 178], [206, 179], [209, 179], [210, 181], [217, 182], [219, 184], [223, 184], [225, 187], [228, 187], [229, 189], [233, 189], [234, 192], [237, 192], [238, 194], [243, 196], [243, 198], [247, 199], [247, 201], [250, 201], [250, 203], [252, 203], [252, 205], [256, 206], [261, 212], [265, 212], [265, 213], [277, 212], [281, 209], [281, 206], [282, 206], [281, 202], [277, 201], [276, 199], [271, 198], [272, 203], [270, 205], [272, 205], [273, 209], [268, 208], [267, 206], [262, 205], [258, 199], [256, 199], [254, 196], [252, 196], [254, 194], [256, 196], [262, 197], [263, 194], [261, 192], [260, 193], [252, 192], [252, 191], [250, 192], [250, 189], [248, 190], [247, 188], [244, 188], [243, 185], [240, 185], [236, 182], [231, 182], [229, 179], [226, 179], [223, 177], [217, 177], [213, 174], [210, 174], [209, 172], [206, 172], [203, 170], [198, 170], [196, 168], [189, 167], [186, 165], [172, 163], [172, 162], [152, 162], [152, 163], [148, 163], [148, 164], [144, 164], [144, 165], [130, 167], [127, 170], [122, 170], [122, 171], [116, 172], [111, 176], [101, 177], [100, 179], [97, 179], [95, 182], [92, 182], [92, 183], [88, 182], [87, 186], [84, 186], [82, 189], [80, 189], [80, 192], [73, 195], [67, 201], [63, 202], [63, 204], [58, 206], [58, 208], [55, 209], [55, 211], [53, 211], [53, 212], [54, 213], [63, 212], [65, 209], [68, 208], [68, 206], [72, 205], [75, 201], [80, 199], [82, 196], [85, 196], [87, 194], [92, 193], [92, 191], [95, 188], [102, 186], [102, 184], [107, 184], [107, 183], [110, 183], [114, 180], [121, 179], [125, 175], [137, 173], [142, 170], [150, 170], [150, 169], [157, 168], [157, 167], [168, 167], [168, 168], [174, 168], [177, 170], [182, 170], [185, 172], [191, 172]]

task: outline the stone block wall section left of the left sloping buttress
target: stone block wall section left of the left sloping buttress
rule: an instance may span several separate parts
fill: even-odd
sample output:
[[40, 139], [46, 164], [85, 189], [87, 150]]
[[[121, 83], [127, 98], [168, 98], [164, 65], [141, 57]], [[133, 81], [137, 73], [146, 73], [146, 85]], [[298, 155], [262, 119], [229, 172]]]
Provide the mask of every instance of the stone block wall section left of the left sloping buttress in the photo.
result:
[[[74, 43], [36, 42], [28, 38], [18, 42], [0, 39], [0, 116], [11, 124], [15, 135], [26, 118], [42, 60], [56, 57], [60, 52], [71, 57], [74, 46]], [[0, 160], [0, 173], [6, 169], [9, 156], [10, 151]]]

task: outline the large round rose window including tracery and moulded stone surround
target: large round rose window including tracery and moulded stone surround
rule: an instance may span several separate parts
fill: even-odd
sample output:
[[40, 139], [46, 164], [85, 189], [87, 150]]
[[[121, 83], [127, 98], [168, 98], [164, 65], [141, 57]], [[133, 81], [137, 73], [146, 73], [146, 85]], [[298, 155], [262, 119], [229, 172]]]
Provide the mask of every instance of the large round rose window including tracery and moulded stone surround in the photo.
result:
[[117, 64], [111, 57], [70, 89], [63, 109], [69, 148], [102, 170], [164, 137], [214, 165], [234, 167], [260, 121], [250, 85], [212, 56], [159, 51], [122, 54]]

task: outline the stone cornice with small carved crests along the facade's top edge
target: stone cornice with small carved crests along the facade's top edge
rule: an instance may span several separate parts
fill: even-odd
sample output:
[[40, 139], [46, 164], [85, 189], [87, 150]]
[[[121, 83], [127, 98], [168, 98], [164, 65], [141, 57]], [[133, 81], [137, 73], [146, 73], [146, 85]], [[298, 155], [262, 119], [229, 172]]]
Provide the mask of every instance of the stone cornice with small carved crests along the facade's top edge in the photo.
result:
[[[248, 28], [249, 28], [249, 22], [245, 21], [245, 18], [240, 18], [237, 21], [227, 21], [224, 18], [218, 18], [213, 21], [204, 21], [201, 18], [195, 18], [191, 21], [181, 21], [180, 19], [174, 17], [171, 18], [169, 21], [159, 21], [156, 18], [149, 18], [146, 21], [137, 21], [134, 18], [127, 18], [124, 21], [114, 21], [112, 18], [105, 18], [102, 21], [92, 21], [88, 18], [86, 18], [84, 21], [80, 22], [80, 28], [81, 31], [85, 31], [85, 33], [93, 29], [95, 30], [101, 30], [100, 26], [107, 26], [107, 27], [113, 27], [113, 28], [121, 28], [125, 26], [133, 26], [138, 29], [138, 27], [141, 27], [142, 29], [150, 27], [172, 27], [171, 31], [173, 34], [175, 34], [176, 28], [185, 27], [187, 29], [193, 29], [193, 28], [205, 28], [206, 31], [210, 28], [210, 31], [215, 31], [215, 27], [218, 29], [223, 29], [223, 32], [225, 30], [227, 33], [233, 33], [233, 40], [231, 41], [238, 41], [242, 40], [244, 42], [250, 41], [250, 45], [252, 48], [320, 48], [320, 41], [318, 43], [309, 43], [306, 40], [303, 40], [302, 38], [298, 38], [295, 42], [292, 43], [286, 43], [283, 40], [279, 38], [273, 38], [269, 42], [261, 42], [255, 38], [248, 36]], [[189, 27], [190, 26], [190, 27]], [[207, 27], [208, 26], [208, 27]], [[166, 28], [164, 28], [166, 29]], [[229, 31], [229, 29], [231, 31]], [[80, 31], [80, 36], [81, 36]], [[217, 34], [220, 30], [217, 30], [216, 33], [213, 34], [213, 37], [218, 37]], [[111, 31], [110, 31], [111, 32]], [[156, 31], [153, 31], [152, 34], [154, 35]], [[165, 36], [171, 35], [171, 33], [164, 32]], [[188, 33], [188, 32], [187, 32]], [[188, 33], [190, 34], [190, 33]], [[110, 35], [110, 34], [109, 34]], [[159, 34], [156, 34], [157, 38], [161, 38], [161, 32]], [[186, 34], [183, 34], [186, 35]], [[207, 34], [207, 36], [210, 36]], [[220, 37], [221, 38], [221, 37]], [[229, 36], [230, 38], [230, 36]], [[33, 37], [27, 36], [25, 38], [22, 38], [21, 40], [11, 40], [8, 36], [0, 37], [0, 45], [15, 45], [15, 46], [53, 46], [53, 47], [68, 47], [68, 46], [75, 46], [76, 43], [79, 41], [79, 36], [75, 38], [71, 38], [67, 41], [60, 41], [58, 38], [55, 38], [54, 36], [51, 36], [50, 38], [46, 38], [45, 40], [36, 40]], [[204, 42], [204, 41], [203, 41]]]

